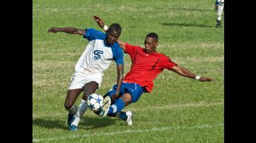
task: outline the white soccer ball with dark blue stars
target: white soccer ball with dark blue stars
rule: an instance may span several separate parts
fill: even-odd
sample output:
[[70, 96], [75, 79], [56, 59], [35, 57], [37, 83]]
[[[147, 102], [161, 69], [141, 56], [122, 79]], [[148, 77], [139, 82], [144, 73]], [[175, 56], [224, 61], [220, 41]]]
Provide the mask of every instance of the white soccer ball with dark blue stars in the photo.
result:
[[93, 110], [93, 111], [99, 111], [99, 109], [102, 108], [102, 102], [103, 102], [103, 96], [98, 95], [96, 93], [90, 95], [87, 98], [87, 105]]

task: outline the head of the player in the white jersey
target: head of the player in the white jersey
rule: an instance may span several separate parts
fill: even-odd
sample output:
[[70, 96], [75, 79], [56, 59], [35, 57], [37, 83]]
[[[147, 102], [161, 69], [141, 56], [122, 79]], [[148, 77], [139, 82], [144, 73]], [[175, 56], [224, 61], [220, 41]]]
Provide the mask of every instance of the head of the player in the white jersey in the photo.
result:
[[119, 24], [111, 24], [107, 30], [107, 44], [112, 45], [121, 35], [121, 26]]

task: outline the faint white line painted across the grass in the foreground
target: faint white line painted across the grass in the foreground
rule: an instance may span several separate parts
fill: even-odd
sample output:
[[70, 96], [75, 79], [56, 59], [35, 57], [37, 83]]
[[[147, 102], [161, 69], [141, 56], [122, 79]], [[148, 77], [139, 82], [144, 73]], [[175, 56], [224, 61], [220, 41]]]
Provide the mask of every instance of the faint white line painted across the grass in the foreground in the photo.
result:
[[33, 139], [33, 142], [42, 142], [42, 141], [52, 141], [52, 140], [62, 140], [62, 139], [74, 139], [78, 137], [91, 137], [91, 136], [111, 136], [117, 134], [130, 134], [130, 133], [137, 133], [137, 132], [154, 132], [154, 131], [166, 131], [166, 130], [179, 130], [179, 129], [192, 129], [192, 128], [209, 128], [215, 126], [224, 126], [223, 123], [210, 125], [210, 124], [202, 124], [199, 126], [176, 126], [176, 127], [153, 127], [152, 129], [135, 129], [130, 130], [127, 129], [126, 131], [119, 131], [119, 132], [99, 132], [97, 134], [83, 134], [83, 135], [73, 135], [69, 137], [51, 137], [47, 139]]

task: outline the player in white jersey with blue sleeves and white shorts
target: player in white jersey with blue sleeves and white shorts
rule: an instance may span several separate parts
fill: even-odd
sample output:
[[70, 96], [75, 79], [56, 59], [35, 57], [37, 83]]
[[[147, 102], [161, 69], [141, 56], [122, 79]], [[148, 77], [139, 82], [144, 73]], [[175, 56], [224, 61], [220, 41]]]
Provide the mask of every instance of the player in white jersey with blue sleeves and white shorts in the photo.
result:
[[[77, 131], [80, 118], [87, 109], [87, 98], [101, 86], [104, 71], [109, 67], [112, 60], [117, 65], [118, 88], [116, 96], [119, 96], [124, 73], [124, 53], [116, 40], [121, 34], [121, 26], [112, 24], [106, 34], [96, 29], [77, 29], [74, 27], [51, 27], [47, 32], [77, 34], [89, 40], [89, 44], [76, 63], [64, 103], [65, 108], [69, 111], [67, 124], [71, 131]], [[84, 93], [77, 108], [74, 103], [82, 91]], [[110, 98], [105, 98], [103, 103], [109, 103], [109, 100]]]

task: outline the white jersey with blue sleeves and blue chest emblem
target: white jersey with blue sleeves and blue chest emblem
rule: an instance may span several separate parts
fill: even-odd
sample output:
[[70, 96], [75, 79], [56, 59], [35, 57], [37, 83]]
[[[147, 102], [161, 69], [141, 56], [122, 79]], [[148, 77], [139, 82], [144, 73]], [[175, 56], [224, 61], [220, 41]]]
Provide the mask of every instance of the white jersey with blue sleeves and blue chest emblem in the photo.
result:
[[111, 65], [112, 60], [117, 64], [124, 64], [124, 53], [115, 42], [106, 44], [106, 34], [95, 29], [86, 29], [84, 38], [89, 40], [86, 50], [76, 63], [75, 71], [92, 72], [104, 75], [104, 71]]

